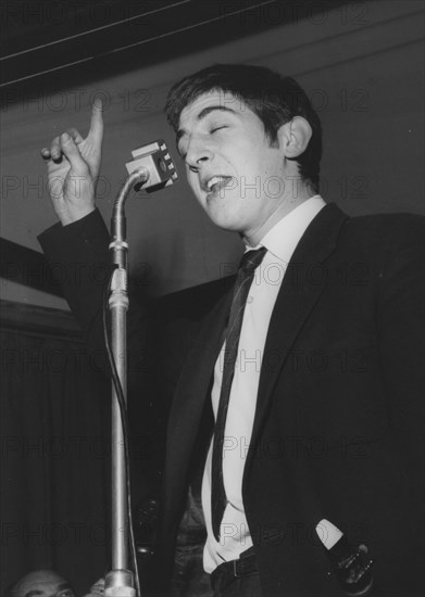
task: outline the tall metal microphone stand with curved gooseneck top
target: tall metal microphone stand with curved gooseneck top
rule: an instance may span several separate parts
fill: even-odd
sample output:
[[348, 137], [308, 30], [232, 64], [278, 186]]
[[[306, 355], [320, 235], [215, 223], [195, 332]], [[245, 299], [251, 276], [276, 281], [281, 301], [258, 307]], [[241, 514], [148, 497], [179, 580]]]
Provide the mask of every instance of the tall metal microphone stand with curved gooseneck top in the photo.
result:
[[[109, 310], [111, 312], [111, 344], [117, 376], [127, 403], [127, 336], [126, 316], [127, 294], [127, 252], [126, 219], [124, 204], [132, 188], [146, 185], [149, 170], [138, 168], [128, 176], [114, 203], [111, 219], [111, 251], [114, 270], [111, 280]], [[124, 434], [121, 421], [120, 403], [115, 385], [112, 383], [112, 558], [111, 571], [105, 575], [105, 597], [135, 597], [134, 575], [128, 570], [128, 503], [125, 466]]]

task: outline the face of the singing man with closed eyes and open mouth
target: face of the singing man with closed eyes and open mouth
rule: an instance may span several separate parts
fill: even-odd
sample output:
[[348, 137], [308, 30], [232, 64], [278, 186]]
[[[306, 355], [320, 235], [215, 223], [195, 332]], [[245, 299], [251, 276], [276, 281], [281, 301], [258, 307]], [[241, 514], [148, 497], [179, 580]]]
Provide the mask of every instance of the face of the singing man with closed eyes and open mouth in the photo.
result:
[[217, 226], [248, 238], [284, 201], [285, 160], [276, 145], [257, 114], [220, 90], [200, 96], [180, 114], [177, 147], [196, 198]]

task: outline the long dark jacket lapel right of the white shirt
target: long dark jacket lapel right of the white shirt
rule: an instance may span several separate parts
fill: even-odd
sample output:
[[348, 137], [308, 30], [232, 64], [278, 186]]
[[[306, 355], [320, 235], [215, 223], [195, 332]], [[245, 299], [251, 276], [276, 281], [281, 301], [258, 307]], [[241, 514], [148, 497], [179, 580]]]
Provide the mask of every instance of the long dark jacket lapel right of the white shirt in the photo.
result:
[[268, 410], [282, 367], [302, 325], [327, 284], [322, 264], [334, 252], [348, 216], [335, 204], [326, 205], [313, 219], [288, 264], [270, 321], [260, 373], [259, 392], [246, 473]]

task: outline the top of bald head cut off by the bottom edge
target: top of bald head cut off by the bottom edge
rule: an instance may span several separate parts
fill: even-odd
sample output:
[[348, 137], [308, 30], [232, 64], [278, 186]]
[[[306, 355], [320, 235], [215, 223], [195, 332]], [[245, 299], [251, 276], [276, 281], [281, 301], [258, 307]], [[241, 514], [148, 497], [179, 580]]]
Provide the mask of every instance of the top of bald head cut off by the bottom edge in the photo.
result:
[[35, 570], [13, 585], [10, 597], [75, 597], [75, 593], [54, 570]]

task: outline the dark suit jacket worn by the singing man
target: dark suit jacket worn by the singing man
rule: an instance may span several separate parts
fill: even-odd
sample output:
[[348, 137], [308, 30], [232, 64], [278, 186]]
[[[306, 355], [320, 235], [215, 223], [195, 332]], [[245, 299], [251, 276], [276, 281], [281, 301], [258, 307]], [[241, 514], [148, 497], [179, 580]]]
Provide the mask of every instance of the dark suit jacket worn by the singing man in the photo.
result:
[[[86, 264], [80, 288], [65, 284], [65, 293], [95, 338], [99, 289], [88, 268], [104, 261], [99, 216], [55, 227], [40, 241], [51, 261]], [[202, 436], [210, 437], [208, 397], [232, 279], [217, 285], [207, 315], [191, 308], [177, 318], [185, 333], [174, 318], [170, 356], [161, 360], [165, 385], [175, 385], [164, 561], [204, 455]], [[341, 595], [314, 530], [323, 518], [355, 547], [367, 546], [384, 595], [423, 595], [424, 305], [423, 218], [349, 218], [329, 204], [311, 223], [273, 310], [242, 485], [267, 597]]]

